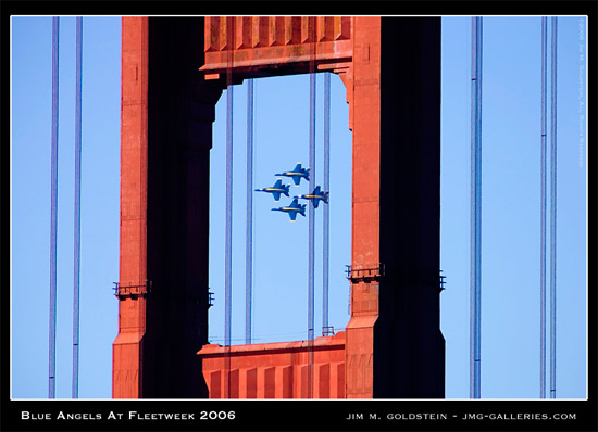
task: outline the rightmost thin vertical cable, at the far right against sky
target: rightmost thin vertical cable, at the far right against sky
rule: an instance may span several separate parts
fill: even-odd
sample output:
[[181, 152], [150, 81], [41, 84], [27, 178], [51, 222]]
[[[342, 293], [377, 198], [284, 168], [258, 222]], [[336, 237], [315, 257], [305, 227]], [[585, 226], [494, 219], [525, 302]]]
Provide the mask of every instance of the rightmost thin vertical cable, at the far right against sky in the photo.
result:
[[557, 17], [552, 17], [550, 88], [550, 398], [557, 397]]

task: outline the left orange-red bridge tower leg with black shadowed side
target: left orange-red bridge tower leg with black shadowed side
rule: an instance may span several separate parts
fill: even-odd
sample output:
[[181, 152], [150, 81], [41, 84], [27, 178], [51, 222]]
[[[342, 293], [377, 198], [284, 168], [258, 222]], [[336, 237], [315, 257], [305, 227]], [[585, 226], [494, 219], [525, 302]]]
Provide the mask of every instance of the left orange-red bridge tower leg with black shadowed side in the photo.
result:
[[[149, 49], [151, 47], [151, 50]], [[113, 397], [205, 397], [209, 176], [222, 88], [203, 18], [122, 23], [121, 262]]]

